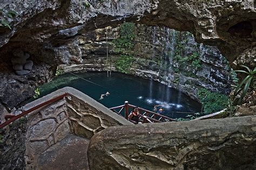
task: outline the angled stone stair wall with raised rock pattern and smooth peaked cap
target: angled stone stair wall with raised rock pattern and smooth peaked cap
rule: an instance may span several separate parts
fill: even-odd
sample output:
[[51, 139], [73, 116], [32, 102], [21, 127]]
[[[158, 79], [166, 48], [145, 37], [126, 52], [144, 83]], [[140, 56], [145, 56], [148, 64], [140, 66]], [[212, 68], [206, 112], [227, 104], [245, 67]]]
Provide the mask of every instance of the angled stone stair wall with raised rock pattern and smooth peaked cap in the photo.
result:
[[[91, 139], [97, 132], [113, 125], [131, 125], [91, 97], [71, 87], [59, 89], [23, 108], [28, 110], [53, 97], [68, 93], [62, 100], [46, 105], [28, 115], [26, 162], [36, 165], [36, 157], [68, 134]], [[33, 167], [33, 166], [32, 166]]]

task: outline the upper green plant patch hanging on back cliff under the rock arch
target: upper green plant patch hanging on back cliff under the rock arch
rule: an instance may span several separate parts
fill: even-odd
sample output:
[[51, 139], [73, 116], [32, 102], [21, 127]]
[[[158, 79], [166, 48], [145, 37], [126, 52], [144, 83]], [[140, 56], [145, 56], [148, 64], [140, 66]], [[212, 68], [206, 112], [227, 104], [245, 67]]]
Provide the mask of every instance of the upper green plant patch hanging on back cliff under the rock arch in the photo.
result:
[[116, 52], [123, 52], [124, 49], [131, 50], [133, 48], [133, 40], [136, 37], [134, 30], [134, 23], [123, 23], [120, 25], [120, 36], [118, 39], [113, 41], [116, 45]]

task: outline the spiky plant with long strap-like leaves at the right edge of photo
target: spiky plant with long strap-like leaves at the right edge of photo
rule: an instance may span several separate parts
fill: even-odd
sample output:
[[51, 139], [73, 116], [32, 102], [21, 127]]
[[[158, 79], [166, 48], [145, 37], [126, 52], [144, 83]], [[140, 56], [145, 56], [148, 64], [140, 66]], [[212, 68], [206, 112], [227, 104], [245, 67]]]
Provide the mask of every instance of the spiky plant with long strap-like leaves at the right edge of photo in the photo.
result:
[[[234, 70], [234, 72], [247, 74], [247, 76], [238, 84], [238, 86], [234, 90], [234, 104], [238, 105], [242, 104], [242, 99], [245, 97], [248, 90], [251, 91], [256, 88], [254, 84], [254, 82], [256, 81], [256, 67], [254, 67], [253, 70], [244, 65], [241, 65], [241, 67], [246, 68], [247, 71]], [[239, 94], [240, 96], [237, 98]]]

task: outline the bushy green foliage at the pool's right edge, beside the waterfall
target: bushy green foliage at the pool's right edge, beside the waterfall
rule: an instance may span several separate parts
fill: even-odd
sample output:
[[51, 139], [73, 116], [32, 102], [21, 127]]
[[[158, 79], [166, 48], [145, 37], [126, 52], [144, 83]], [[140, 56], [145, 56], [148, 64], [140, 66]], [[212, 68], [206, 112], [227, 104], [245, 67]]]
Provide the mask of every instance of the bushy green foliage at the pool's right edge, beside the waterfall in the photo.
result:
[[200, 102], [203, 104], [204, 112], [207, 114], [211, 114], [228, 107], [228, 97], [219, 92], [199, 89], [197, 95]]

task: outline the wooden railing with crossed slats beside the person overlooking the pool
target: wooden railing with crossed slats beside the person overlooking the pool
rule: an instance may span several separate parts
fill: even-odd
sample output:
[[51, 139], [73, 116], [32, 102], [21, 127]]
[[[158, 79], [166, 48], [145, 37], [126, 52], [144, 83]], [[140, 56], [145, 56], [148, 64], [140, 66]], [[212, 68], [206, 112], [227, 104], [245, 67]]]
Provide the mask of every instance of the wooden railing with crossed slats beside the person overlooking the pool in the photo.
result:
[[[118, 107], [110, 108], [113, 112], [116, 112], [118, 115], [123, 116], [128, 119], [129, 116], [129, 108], [134, 108], [135, 105], [129, 104], [127, 101], [125, 101], [124, 105], [119, 105]], [[117, 111], [117, 109], [119, 109]], [[156, 112], [149, 111], [143, 108], [139, 108], [139, 122], [141, 123], [160, 123], [160, 122], [172, 122], [176, 121], [170, 117], [157, 114]], [[122, 111], [124, 111], [124, 114], [122, 115]]]

